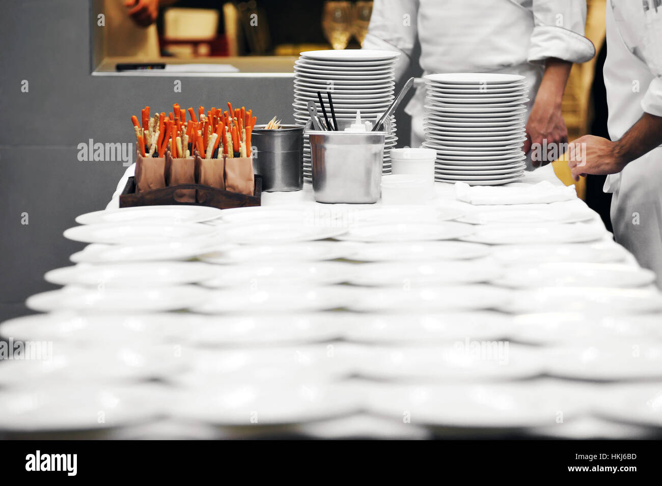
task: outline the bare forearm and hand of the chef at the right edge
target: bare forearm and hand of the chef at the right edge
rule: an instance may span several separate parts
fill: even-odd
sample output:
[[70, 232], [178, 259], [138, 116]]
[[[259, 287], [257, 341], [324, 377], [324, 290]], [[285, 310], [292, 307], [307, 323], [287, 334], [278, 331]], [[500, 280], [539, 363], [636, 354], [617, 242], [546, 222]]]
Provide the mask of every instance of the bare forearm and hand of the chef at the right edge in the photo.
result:
[[662, 116], [644, 113], [617, 142], [586, 135], [570, 145], [573, 179], [587, 174], [616, 174], [662, 143]]

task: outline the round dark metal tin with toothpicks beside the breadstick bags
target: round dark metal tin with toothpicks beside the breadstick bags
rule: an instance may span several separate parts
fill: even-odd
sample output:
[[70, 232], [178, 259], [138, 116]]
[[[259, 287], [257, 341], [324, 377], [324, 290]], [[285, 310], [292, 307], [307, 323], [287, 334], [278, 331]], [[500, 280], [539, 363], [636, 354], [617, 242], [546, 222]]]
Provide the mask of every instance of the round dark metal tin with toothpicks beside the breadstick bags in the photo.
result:
[[251, 136], [253, 171], [267, 192], [303, 188], [303, 126], [281, 125], [266, 130], [256, 125]]

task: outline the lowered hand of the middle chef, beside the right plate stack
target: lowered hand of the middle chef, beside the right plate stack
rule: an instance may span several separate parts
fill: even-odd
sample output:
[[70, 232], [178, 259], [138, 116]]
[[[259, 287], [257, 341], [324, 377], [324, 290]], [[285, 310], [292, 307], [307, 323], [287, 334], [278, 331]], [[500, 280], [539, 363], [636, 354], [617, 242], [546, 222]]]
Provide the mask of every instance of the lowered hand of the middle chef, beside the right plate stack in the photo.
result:
[[[547, 141], [547, 147], [554, 143], [567, 143], [568, 130], [561, 115], [561, 102], [555, 97], [548, 97], [546, 93], [538, 91], [538, 97], [531, 109], [529, 120], [526, 123], [526, 141], [522, 150], [528, 153], [534, 143], [543, 144]], [[563, 146], [557, 147], [557, 157], [563, 155]], [[531, 162], [534, 167], [547, 165], [553, 160], [548, 159], [547, 150], [532, 151]]]

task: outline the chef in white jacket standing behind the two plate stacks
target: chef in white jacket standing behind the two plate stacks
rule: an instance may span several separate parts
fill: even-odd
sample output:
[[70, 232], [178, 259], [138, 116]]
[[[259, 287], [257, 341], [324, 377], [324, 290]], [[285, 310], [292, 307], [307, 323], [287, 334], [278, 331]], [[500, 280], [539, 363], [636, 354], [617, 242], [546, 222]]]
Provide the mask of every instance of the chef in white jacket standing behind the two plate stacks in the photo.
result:
[[[375, 0], [365, 49], [401, 52], [396, 77], [410, 63], [416, 40], [420, 65], [429, 73], [524, 75], [530, 93], [526, 125], [531, 143], [567, 142], [561, 97], [572, 63], [590, 60], [584, 37], [585, 0]], [[406, 107], [412, 146], [424, 140], [424, 87]], [[534, 160], [534, 167], [549, 160]]]

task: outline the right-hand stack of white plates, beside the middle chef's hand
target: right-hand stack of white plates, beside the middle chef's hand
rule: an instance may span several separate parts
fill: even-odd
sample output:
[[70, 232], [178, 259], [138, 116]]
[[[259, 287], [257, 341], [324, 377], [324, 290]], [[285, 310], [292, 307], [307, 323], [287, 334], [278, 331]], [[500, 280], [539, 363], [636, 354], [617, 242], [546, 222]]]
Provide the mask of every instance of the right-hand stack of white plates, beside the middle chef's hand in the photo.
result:
[[425, 77], [424, 147], [435, 149], [435, 180], [494, 186], [524, 175], [524, 76], [448, 73]]

